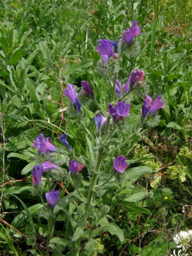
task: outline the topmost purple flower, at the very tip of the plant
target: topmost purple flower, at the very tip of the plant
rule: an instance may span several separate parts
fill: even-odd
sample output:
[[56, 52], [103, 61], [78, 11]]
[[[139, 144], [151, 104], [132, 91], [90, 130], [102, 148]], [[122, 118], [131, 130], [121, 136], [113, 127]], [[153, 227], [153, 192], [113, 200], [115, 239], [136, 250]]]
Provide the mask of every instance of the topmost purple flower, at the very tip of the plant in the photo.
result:
[[122, 37], [122, 44], [124, 45], [125, 43], [129, 44], [130, 42], [132, 42], [132, 40], [138, 36], [138, 34], [140, 33], [141, 27], [137, 26], [138, 21], [134, 20], [132, 26], [130, 29], [126, 29], [123, 37]]

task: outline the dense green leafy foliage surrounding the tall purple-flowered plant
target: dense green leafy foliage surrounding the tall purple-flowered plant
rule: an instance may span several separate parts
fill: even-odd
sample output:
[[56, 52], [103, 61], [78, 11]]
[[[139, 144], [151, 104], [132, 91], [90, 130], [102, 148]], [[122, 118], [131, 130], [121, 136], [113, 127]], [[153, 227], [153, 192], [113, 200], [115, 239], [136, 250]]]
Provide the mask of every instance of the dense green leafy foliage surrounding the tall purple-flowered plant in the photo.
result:
[[[88, 255], [86, 251], [93, 246], [97, 249], [91, 252], [92, 255], [140, 253], [141, 256], [154, 256], [159, 255], [158, 246], [164, 247], [162, 255], [166, 255], [167, 241], [172, 240], [175, 229], [191, 226], [192, 4], [182, 0], [157, 1], [154, 61], [151, 63], [153, 1], [97, 0], [89, 3], [84, 0], [0, 1], [0, 183], [7, 183], [1, 186], [1, 219], [31, 239], [38, 231], [37, 241], [44, 241], [46, 224], [40, 223], [37, 218], [40, 204], [30, 195], [30, 183], [10, 183], [9, 180], [30, 178], [30, 170], [36, 164], [36, 150], [32, 142], [40, 131], [45, 136], [51, 136], [52, 142], [58, 146], [60, 143], [55, 134], [61, 134], [67, 128], [70, 145], [78, 156], [90, 157], [78, 120], [64, 114], [66, 120], [59, 129], [60, 81], [77, 87], [80, 87], [81, 80], [92, 81], [97, 85], [94, 88], [96, 98], [106, 109], [109, 86], [105, 78], [100, 83], [95, 72], [100, 59], [95, 47], [100, 38], [120, 39], [132, 20], [138, 20], [142, 26], [138, 38], [141, 52], [129, 61], [124, 56], [119, 75], [124, 79], [122, 82], [126, 82], [132, 70], [144, 70], [145, 80], [150, 85], [149, 95], [155, 97], [161, 93], [166, 107], [160, 110], [158, 127], [146, 127], [139, 144], [130, 151], [130, 145], [125, 146], [124, 155], [133, 161], [132, 167], [147, 166], [154, 172], [148, 179], [147, 175], [143, 175], [134, 180], [141, 188], [136, 188], [134, 199], [128, 200], [138, 206], [144, 202], [143, 209], [150, 210], [152, 216], [142, 215], [137, 224], [140, 211], [129, 212], [128, 204], [120, 210], [112, 207], [114, 219], [118, 216], [116, 222], [124, 229], [123, 242], [104, 233], [94, 240], [96, 244], [90, 240], [82, 255]], [[135, 102], [138, 104], [135, 112], [138, 112], [142, 100], [138, 96]], [[64, 98], [64, 106], [67, 103]], [[91, 105], [90, 110], [83, 111], [86, 126], [93, 126], [95, 106]], [[115, 145], [114, 142], [114, 148]], [[156, 158], [150, 158], [152, 155]], [[138, 158], [140, 160], [134, 162]], [[150, 184], [148, 192], [145, 191], [146, 180]], [[131, 182], [129, 186], [123, 186], [119, 191], [120, 200], [133, 189]], [[150, 195], [153, 195], [151, 199]], [[165, 197], [168, 199], [165, 200]], [[110, 201], [106, 197], [104, 200], [112, 204], [115, 198]], [[98, 206], [101, 203], [98, 202]], [[60, 216], [58, 221], [64, 218]], [[6, 229], [2, 227], [0, 231], [0, 248], [4, 255], [30, 255], [26, 250], [38, 255], [31, 246], [26, 246], [14, 229], [4, 227]], [[138, 242], [139, 234], [142, 239]], [[55, 239], [59, 238], [62, 239], [61, 230]], [[53, 242], [57, 243], [61, 244], [61, 241]], [[63, 247], [66, 248], [66, 245]], [[141, 252], [140, 247], [145, 249]], [[154, 247], [157, 250], [154, 251]]]

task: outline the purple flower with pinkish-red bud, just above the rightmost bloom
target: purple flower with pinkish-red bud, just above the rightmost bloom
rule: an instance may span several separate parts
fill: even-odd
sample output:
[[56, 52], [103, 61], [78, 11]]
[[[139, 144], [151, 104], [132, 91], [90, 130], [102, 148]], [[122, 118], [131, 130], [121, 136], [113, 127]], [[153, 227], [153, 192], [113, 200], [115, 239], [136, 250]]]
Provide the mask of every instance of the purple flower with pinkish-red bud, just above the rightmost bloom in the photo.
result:
[[130, 87], [136, 86], [136, 83], [139, 83], [144, 79], [145, 72], [140, 70], [134, 70], [131, 72], [130, 77], [128, 78], [123, 90], [124, 92], [128, 92]]

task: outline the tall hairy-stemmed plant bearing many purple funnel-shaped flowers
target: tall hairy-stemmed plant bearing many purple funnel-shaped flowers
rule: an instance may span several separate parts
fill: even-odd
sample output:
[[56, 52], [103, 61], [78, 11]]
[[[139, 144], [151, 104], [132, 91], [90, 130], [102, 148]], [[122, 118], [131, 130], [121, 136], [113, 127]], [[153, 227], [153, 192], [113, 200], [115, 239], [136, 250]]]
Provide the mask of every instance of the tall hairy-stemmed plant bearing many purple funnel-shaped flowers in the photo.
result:
[[[164, 107], [161, 95], [154, 101], [147, 95], [143, 70], [130, 72], [125, 84], [118, 76], [122, 56], [131, 58], [138, 52], [136, 36], [141, 28], [137, 24], [134, 21], [125, 30], [121, 47], [118, 40], [99, 40], [98, 72], [92, 70], [90, 80], [82, 80], [79, 92], [75, 85], [65, 85], [64, 100], [70, 100], [66, 106], [66, 129], [64, 124], [60, 126], [60, 135], [52, 136], [52, 141], [41, 133], [33, 143], [38, 164], [31, 170], [32, 194], [41, 200], [40, 218], [48, 221], [46, 256], [50, 248], [58, 252], [65, 246], [70, 248], [67, 255], [78, 256], [80, 250], [81, 255], [87, 250], [92, 250], [89, 255], [93, 255], [98, 243], [95, 237], [103, 232], [123, 241], [123, 231], [116, 224], [118, 206], [130, 212], [151, 214], [134, 204], [137, 200], [128, 200], [126, 192], [126, 183], [134, 187], [132, 181], [152, 170], [130, 168], [132, 162], [125, 152], [139, 140], [143, 126], [158, 123], [157, 112]], [[72, 122], [68, 122], [69, 117]], [[63, 215], [64, 238], [59, 234], [54, 237], [54, 225]]]

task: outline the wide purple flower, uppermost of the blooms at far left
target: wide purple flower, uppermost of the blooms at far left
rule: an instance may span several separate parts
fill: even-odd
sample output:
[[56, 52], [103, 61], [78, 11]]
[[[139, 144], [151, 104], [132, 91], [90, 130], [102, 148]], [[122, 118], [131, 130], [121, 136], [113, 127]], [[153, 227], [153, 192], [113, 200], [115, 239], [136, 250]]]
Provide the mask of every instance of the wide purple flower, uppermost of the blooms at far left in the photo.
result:
[[52, 145], [50, 137], [44, 138], [44, 134], [40, 134], [33, 143], [34, 148], [38, 149], [42, 154], [44, 152], [54, 151], [56, 148]]

